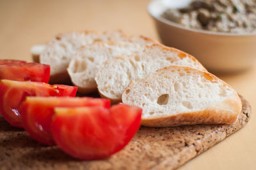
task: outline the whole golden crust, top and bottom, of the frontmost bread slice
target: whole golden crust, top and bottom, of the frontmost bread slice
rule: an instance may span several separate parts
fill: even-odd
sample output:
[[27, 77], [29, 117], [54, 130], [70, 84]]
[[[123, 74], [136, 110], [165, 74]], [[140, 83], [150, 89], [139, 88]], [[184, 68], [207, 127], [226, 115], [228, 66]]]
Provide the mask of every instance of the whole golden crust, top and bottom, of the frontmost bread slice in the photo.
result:
[[[195, 68], [190, 68], [188, 66], [168, 66], [165, 68], [161, 68], [157, 70], [157, 72], [161, 70], [167, 70], [169, 68], [182, 69], [186, 71], [195, 71], [202, 74], [206, 79], [211, 82], [220, 81], [224, 84], [224, 86], [230, 87], [226, 82], [221, 81], [215, 75], [212, 75], [208, 72], [203, 72], [200, 70], [196, 70]], [[131, 81], [125, 91], [127, 89], [131, 89], [134, 85], [134, 82]], [[231, 87], [230, 87], [231, 88]], [[124, 102], [124, 93], [122, 95], [122, 99]], [[180, 125], [195, 125], [195, 124], [228, 124], [232, 125], [236, 123], [239, 113], [242, 109], [241, 99], [234, 93], [232, 96], [227, 98], [226, 100], [220, 101], [218, 104], [212, 105], [211, 107], [207, 107], [201, 111], [195, 112], [183, 112], [170, 116], [155, 116], [152, 118], [142, 118], [141, 125], [147, 127], [175, 127]]]

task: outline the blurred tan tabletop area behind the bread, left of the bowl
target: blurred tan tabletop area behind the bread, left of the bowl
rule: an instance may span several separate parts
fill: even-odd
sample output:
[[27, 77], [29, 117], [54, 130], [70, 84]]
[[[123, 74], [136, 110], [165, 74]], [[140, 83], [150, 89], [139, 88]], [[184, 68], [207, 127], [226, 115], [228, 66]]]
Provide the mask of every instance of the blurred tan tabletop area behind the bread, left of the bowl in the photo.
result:
[[147, 0], [1, 0], [0, 33], [4, 58], [31, 60], [30, 48], [66, 31], [123, 29], [157, 38]]

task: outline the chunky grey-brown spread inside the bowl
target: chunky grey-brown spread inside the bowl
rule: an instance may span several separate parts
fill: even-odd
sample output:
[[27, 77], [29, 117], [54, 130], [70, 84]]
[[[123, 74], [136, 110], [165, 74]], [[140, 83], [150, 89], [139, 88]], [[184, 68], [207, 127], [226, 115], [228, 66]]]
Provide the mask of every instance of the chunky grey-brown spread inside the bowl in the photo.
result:
[[185, 8], [170, 8], [162, 16], [196, 29], [224, 33], [256, 32], [255, 0], [195, 0]]

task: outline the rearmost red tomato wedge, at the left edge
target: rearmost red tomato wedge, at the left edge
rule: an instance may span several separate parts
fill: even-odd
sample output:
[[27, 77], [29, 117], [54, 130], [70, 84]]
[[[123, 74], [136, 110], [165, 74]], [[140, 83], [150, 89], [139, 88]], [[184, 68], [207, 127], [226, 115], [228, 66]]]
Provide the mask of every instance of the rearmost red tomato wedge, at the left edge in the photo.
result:
[[0, 60], [0, 79], [49, 82], [50, 66], [17, 60]]

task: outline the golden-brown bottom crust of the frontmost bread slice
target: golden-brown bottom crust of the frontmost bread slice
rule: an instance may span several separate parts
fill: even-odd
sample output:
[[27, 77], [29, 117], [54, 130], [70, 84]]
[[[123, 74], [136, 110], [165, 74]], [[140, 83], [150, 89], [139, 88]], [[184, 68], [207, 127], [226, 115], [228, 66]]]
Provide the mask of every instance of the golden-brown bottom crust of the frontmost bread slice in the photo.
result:
[[225, 107], [220, 107], [220, 105], [223, 105], [221, 102], [202, 111], [184, 112], [172, 116], [161, 116], [150, 119], [143, 118], [141, 120], [141, 125], [146, 127], [175, 127], [196, 124], [232, 125], [236, 123], [242, 109], [240, 105], [241, 99], [238, 97], [237, 93], [235, 93], [231, 98], [223, 101], [223, 103], [230, 104], [230, 106], [234, 108], [232, 110], [227, 110]]

